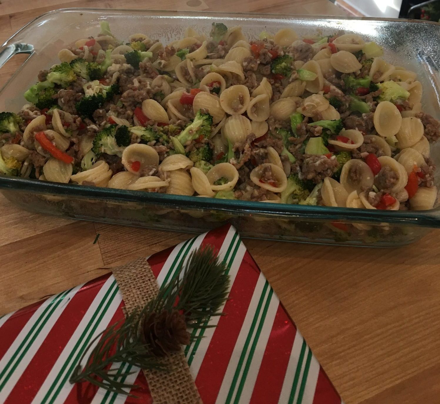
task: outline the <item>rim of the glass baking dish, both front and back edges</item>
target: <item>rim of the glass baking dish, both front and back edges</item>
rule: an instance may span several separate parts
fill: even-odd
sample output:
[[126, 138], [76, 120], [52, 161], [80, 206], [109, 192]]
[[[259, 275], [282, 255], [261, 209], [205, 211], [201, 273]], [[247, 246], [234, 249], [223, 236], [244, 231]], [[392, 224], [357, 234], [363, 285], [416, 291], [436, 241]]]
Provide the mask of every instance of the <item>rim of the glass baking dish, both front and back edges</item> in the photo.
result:
[[[5, 44], [13, 42], [18, 34], [22, 33], [29, 26], [41, 18], [49, 15], [57, 15], [67, 12], [100, 13], [106, 16], [111, 14], [117, 16], [121, 14], [145, 14], [158, 17], [221, 17], [231, 19], [242, 18], [269, 18], [269, 19], [304, 19], [304, 20], [363, 20], [371, 22], [397, 22], [397, 23], [421, 23], [440, 25], [439, 22], [398, 19], [398, 18], [373, 18], [373, 17], [354, 17], [354, 16], [310, 16], [310, 15], [283, 15], [276, 13], [242, 13], [242, 12], [220, 12], [220, 11], [171, 11], [171, 10], [138, 10], [138, 9], [108, 9], [108, 8], [60, 8], [48, 11], [32, 21], [28, 22]], [[15, 74], [8, 80], [13, 80]], [[6, 84], [5, 84], [6, 85]], [[169, 195], [158, 193], [146, 193], [142, 191], [130, 191], [125, 189], [99, 188], [92, 186], [79, 186], [76, 184], [60, 184], [43, 182], [25, 178], [11, 178], [0, 175], [0, 189], [16, 190], [21, 192], [35, 192], [38, 194], [51, 193], [65, 195], [67, 197], [87, 197], [101, 200], [116, 200], [121, 202], [135, 202], [141, 204], [161, 204], [174, 208], [204, 209], [223, 211], [231, 214], [241, 215], [271, 215], [290, 219], [303, 220], [334, 220], [341, 222], [376, 222], [392, 223], [397, 225], [412, 225], [423, 227], [440, 227], [440, 207], [428, 211], [381, 211], [371, 209], [351, 209], [343, 207], [307, 206], [298, 204], [276, 204], [268, 202], [253, 202], [243, 200], [225, 200], [216, 198], [187, 197], [182, 195]]]

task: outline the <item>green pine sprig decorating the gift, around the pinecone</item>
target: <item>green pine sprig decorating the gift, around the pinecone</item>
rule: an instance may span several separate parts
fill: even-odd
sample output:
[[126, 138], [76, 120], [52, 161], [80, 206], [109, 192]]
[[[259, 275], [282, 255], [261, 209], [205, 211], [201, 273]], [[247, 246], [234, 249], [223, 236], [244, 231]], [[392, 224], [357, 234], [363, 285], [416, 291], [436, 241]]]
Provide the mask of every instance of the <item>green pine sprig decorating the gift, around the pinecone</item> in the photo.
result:
[[[144, 321], [164, 311], [179, 310], [188, 327], [212, 327], [208, 325], [209, 317], [222, 314], [219, 310], [227, 300], [228, 288], [226, 265], [219, 261], [213, 247], [199, 247], [191, 253], [187, 265], [180, 266], [176, 276], [160, 289], [156, 298], [142, 309], [135, 309], [125, 320], [106, 328], [89, 344], [70, 376], [70, 383], [86, 381], [112, 393], [132, 395], [127, 390], [137, 386], [118, 381], [123, 364], [144, 370], [168, 370], [147, 343]], [[97, 340], [83, 368], [81, 362]], [[115, 363], [120, 367], [111, 368]]]

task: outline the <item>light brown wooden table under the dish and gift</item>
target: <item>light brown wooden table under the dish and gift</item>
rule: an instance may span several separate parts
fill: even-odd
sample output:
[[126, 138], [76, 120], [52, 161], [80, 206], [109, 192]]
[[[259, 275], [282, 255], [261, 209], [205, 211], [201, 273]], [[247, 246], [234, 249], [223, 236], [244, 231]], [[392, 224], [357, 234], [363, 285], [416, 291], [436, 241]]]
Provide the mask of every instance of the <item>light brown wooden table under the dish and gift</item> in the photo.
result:
[[[326, 0], [162, 0], [162, 9], [333, 14]], [[143, 8], [155, 3], [143, 1]], [[189, 4], [189, 5], [187, 5]], [[190, 6], [193, 7], [190, 7]], [[54, 8], [139, 8], [130, 0], [0, 1], [0, 43]], [[1, 69], [0, 85], [23, 58]], [[189, 237], [35, 215], [0, 194], [0, 315]], [[97, 233], [99, 241], [93, 244]], [[370, 249], [245, 240], [346, 404], [438, 403], [440, 237]], [[123, 246], [118, 248], [118, 246]]]

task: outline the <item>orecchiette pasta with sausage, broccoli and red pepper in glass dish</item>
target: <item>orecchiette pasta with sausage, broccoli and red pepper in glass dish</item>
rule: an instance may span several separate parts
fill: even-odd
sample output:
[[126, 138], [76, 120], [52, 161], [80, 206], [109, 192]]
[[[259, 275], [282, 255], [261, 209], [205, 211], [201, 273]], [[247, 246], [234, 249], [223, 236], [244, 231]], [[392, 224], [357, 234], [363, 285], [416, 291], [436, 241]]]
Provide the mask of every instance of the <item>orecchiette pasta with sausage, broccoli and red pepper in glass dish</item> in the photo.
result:
[[[175, 195], [382, 210], [435, 206], [417, 74], [354, 34], [240, 26], [59, 51], [0, 113], [0, 173]], [[355, 224], [360, 230], [369, 225]]]

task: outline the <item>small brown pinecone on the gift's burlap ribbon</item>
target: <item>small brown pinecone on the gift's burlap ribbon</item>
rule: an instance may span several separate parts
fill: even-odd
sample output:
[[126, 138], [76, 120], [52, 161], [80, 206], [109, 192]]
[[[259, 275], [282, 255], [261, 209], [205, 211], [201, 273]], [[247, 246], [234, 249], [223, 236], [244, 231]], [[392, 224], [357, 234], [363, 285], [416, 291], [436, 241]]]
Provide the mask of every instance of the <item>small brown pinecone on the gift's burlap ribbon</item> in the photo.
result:
[[185, 317], [177, 310], [170, 313], [152, 313], [143, 323], [145, 341], [151, 351], [158, 357], [164, 357], [172, 352], [179, 352], [181, 345], [190, 343]]

